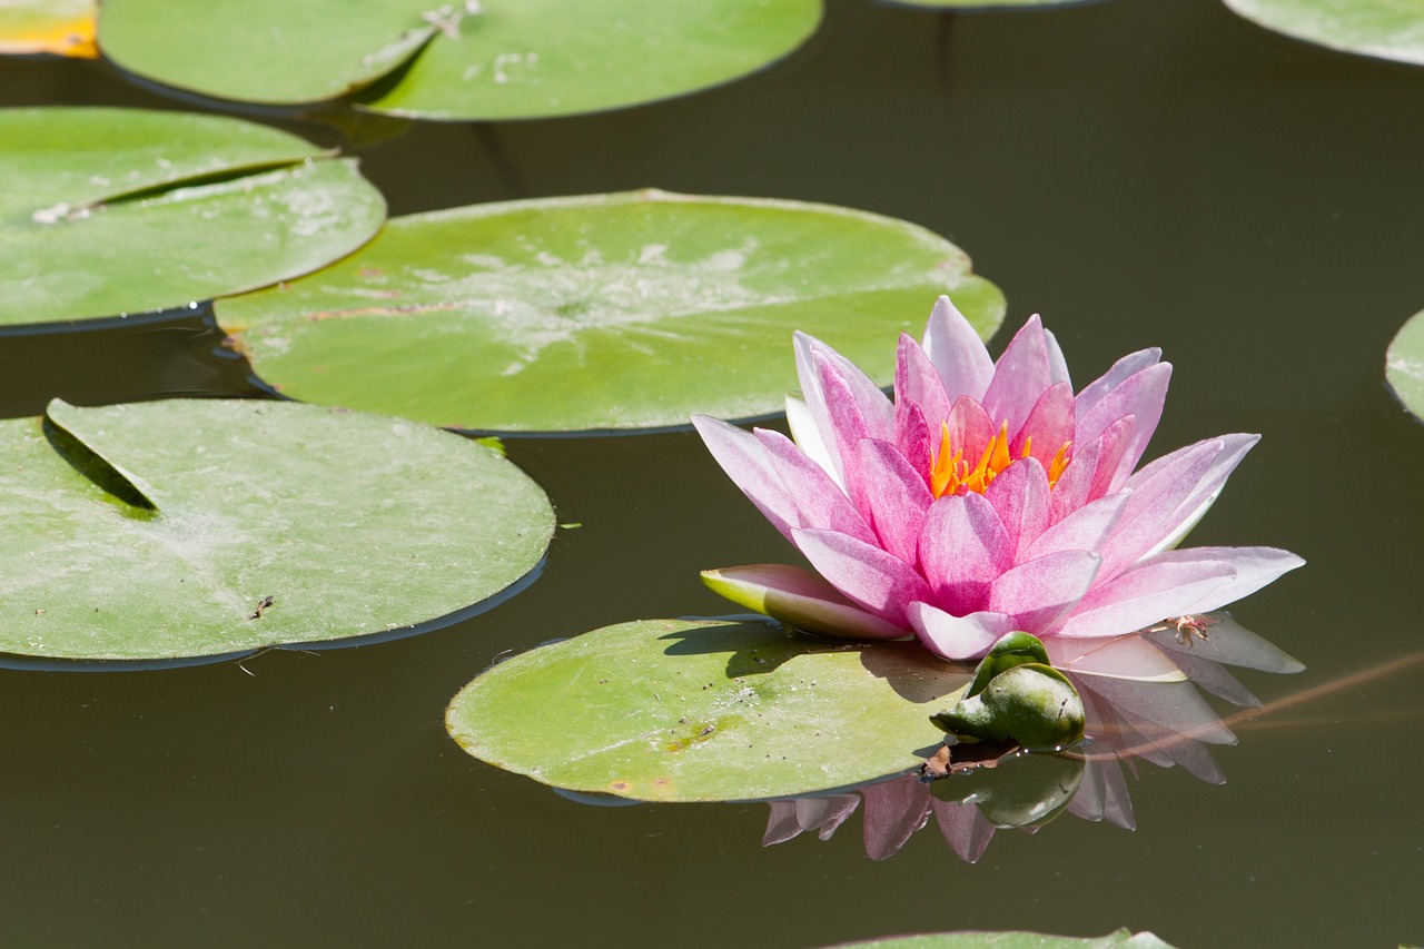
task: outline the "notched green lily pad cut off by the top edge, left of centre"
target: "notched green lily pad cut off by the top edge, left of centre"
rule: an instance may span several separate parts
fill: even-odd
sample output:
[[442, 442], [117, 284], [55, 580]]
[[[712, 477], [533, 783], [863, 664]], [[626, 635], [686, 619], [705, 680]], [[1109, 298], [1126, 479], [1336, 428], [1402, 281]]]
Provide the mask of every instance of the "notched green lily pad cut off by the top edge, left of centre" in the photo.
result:
[[795, 50], [820, 13], [820, 0], [105, 0], [98, 31], [120, 67], [204, 95], [300, 104], [362, 90], [377, 111], [496, 120], [718, 85]]

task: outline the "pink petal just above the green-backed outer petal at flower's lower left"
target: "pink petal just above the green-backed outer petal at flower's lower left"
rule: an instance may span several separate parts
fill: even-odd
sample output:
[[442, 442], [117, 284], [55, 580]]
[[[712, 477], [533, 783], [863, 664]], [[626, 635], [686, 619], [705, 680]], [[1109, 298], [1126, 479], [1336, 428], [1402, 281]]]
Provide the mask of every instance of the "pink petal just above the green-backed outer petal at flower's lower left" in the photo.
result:
[[931, 597], [913, 567], [880, 547], [830, 530], [793, 530], [792, 541], [833, 587], [903, 630], [906, 606]]

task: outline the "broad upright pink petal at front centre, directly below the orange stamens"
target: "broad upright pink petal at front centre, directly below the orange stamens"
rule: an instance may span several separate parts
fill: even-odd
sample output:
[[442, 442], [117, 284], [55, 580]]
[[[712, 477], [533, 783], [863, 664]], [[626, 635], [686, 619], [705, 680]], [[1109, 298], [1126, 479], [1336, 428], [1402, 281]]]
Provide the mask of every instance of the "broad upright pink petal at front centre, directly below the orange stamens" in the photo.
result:
[[1012, 563], [1008, 531], [983, 494], [946, 494], [930, 504], [920, 530], [920, 567], [934, 603], [957, 616], [983, 608], [988, 584]]

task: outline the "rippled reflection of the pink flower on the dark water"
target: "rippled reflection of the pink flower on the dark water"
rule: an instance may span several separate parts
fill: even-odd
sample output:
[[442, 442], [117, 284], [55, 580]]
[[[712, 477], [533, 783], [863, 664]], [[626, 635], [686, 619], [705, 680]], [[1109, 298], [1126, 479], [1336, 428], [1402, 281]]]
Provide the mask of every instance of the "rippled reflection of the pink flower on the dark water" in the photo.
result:
[[[1087, 711], [1081, 745], [1054, 755], [1030, 755], [1017, 748], [985, 755], [983, 745], [958, 745], [950, 750], [948, 774], [940, 779], [911, 774], [850, 794], [772, 801], [763, 845], [807, 831], [827, 839], [863, 799], [866, 854], [871, 859], [896, 854], [933, 816], [954, 852], [973, 864], [994, 831], [1034, 832], [1064, 812], [1132, 829], [1124, 765], [1132, 769], [1139, 758], [1163, 768], [1180, 765], [1203, 781], [1220, 784], [1225, 777], [1208, 745], [1235, 744], [1236, 737], [1196, 687], [1237, 705], [1259, 707], [1259, 700], [1222, 664], [1272, 673], [1303, 667], [1227, 614], [1179, 626], [1163, 623], [1134, 638], [1159, 651], [1185, 678], [1143, 681], [1074, 671], [1071, 664], [1064, 668]], [[981, 759], [961, 754], [968, 748]], [[936, 774], [943, 772], [941, 765]]]

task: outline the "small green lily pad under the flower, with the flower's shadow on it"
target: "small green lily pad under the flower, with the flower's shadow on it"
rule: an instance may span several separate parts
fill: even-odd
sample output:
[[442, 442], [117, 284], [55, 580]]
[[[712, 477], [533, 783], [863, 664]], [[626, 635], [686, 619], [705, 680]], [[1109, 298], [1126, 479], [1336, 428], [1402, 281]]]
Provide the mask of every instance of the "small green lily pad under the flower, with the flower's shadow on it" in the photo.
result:
[[500, 663], [446, 727], [476, 758], [639, 801], [809, 794], [909, 771], [970, 670], [914, 643], [829, 644], [762, 621], [642, 620]]

